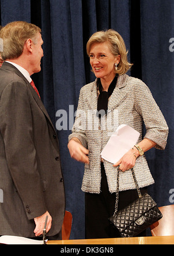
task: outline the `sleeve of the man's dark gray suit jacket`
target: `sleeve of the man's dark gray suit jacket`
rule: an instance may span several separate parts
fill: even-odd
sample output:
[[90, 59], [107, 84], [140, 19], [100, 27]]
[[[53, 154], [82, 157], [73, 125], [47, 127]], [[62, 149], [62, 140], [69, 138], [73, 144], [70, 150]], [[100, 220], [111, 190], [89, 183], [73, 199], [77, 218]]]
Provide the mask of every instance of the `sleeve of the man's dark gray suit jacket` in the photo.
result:
[[28, 88], [23, 81], [13, 81], [1, 96], [0, 127], [5, 143], [6, 161], [14, 185], [23, 201], [28, 219], [46, 212], [37, 171], [32, 138], [32, 113]]

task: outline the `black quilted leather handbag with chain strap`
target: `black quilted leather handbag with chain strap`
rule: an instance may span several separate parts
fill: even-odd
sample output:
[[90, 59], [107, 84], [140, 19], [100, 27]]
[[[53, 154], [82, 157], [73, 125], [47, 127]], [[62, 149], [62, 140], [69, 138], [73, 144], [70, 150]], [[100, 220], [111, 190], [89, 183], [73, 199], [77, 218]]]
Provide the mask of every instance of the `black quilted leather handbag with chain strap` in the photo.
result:
[[121, 237], [133, 237], [139, 235], [151, 224], [162, 218], [162, 214], [155, 201], [149, 194], [140, 192], [137, 184], [135, 172], [131, 169], [133, 179], [139, 198], [133, 203], [118, 211], [118, 192], [119, 192], [119, 168], [117, 171], [117, 192], [115, 200], [114, 215], [108, 220], [114, 225]]

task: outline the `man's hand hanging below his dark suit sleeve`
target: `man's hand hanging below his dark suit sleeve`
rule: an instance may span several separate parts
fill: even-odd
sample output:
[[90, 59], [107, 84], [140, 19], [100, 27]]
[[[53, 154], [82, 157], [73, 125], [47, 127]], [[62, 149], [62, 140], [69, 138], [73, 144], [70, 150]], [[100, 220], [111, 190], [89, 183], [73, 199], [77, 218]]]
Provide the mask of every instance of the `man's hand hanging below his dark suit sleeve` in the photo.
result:
[[45, 219], [46, 219], [46, 215], [48, 215], [48, 220], [47, 220], [47, 224], [46, 224], [46, 233], [48, 233], [48, 231], [50, 230], [51, 226], [52, 226], [52, 217], [50, 216], [49, 212], [46, 211], [45, 214], [34, 218], [35, 221], [35, 229], [34, 229], [34, 233], [35, 236], [40, 236], [43, 233], [43, 229], [45, 226]]

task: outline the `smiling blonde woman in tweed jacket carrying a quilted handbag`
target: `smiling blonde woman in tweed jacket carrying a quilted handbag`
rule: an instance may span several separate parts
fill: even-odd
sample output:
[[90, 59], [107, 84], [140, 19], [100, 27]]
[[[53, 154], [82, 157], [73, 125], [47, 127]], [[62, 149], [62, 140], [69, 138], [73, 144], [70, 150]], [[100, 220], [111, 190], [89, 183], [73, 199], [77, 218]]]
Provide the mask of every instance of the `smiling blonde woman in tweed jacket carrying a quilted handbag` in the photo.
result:
[[[152, 147], [165, 149], [168, 126], [147, 86], [125, 74], [132, 64], [127, 60], [121, 35], [114, 30], [99, 31], [90, 37], [86, 48], [96, 80], [81, 89], [68, 149], [71, 157], [85, 163], [82, 190], [86, 198], [86, 238], [116, 237], [108, 217], [114, 213], [117, 167], [122, 171], [120, 210], [137, 198], [132, 167], [142, 193], [154, 183], [144, 152]], [[103, 125], [104, 120], [107, 125]], [[134, 128], [140, 136], [136, 145], [113, 165], [100, 153], [121, 124]]]

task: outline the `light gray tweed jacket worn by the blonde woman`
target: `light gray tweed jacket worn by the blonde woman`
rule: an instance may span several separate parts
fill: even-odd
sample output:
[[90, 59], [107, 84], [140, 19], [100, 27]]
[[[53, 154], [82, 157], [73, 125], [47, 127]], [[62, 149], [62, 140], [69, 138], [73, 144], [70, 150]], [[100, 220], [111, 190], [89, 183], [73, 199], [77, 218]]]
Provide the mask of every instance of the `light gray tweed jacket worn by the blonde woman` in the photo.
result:
[[[96, 111], [97, 83], [94, 81], [81, 88], [77, 115], [68, 138], [78, 138], [89, 149], [89, 164], [85, 164], [82, 181], [82, 190], [89, 193], [100, 193], [100, 153], [119, 125], [126, 124], [138, 131], [139, 143], [143, 139], [144, 122], [144, 138], [157, 143], [157, 149], [165, 149], [168, 137], [168, 125], [147, 85], [126, 74], [118, 77], [114, 92], [108, 100], [107, 117], [104, 115], [99, 121]], [[106, 160], [104, 168], [109, 191], [113, 193], [117, 190], [117, 168]], [[134, 170], [140, 188], [154, 183], [144, 155], [136, 158]], [[119, 175], [119, 190], [127, 189], [135, 189], [131, 170]]]

